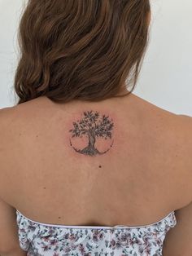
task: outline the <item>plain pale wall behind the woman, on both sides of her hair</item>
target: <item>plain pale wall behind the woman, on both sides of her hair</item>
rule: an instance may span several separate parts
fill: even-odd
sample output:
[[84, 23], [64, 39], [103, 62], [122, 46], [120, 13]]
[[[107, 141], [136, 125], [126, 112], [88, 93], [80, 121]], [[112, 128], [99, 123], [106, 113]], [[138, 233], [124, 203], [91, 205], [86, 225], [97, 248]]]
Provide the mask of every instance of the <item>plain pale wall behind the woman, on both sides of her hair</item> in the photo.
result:
[[[0, 108], [16, 104], [17, 29], [25, 0], [0, 0]], [[192, 1], [151, 0], [150, 43], [133, 94], [192, 117]]]

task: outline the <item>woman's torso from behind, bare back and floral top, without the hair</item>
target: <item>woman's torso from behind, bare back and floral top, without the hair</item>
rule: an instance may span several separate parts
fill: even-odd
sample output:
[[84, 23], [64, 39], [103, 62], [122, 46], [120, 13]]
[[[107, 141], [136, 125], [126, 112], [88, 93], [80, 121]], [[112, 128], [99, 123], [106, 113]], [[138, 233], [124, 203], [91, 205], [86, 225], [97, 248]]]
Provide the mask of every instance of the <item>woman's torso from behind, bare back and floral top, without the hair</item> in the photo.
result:
[[[94, 130], [92, 153], [83, 117], [108, 137]], [[40, 97], [0, 119], [0, 193], [17, 210], [28, 256], [162, 255], [174, 211], [191, 201], [188, 118], [129, 95], [69, 104]]]

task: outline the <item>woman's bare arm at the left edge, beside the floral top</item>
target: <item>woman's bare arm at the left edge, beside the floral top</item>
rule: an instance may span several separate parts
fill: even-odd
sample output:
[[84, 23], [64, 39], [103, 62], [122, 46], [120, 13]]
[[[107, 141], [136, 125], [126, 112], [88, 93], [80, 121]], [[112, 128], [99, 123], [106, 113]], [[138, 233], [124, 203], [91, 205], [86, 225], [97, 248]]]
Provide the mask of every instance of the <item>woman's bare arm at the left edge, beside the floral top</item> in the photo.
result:
[[16, 210], [4, 200], [4, 196], [11, 193], [11, 187], [7, 186], [10, 182], [7, 177], [11, 176], [11, 173], [8, 173], [10, 166], [7, 164], [11, 161], [11, 157], [8, 157], [8, 148], [12, 139], [11, 133], [7, 133], [7, 130], [14, 129], [11, 126], [14, 117], [10, 109], [0, 110], [0, 255], [25, 256], [26, 252], [20, 249]]

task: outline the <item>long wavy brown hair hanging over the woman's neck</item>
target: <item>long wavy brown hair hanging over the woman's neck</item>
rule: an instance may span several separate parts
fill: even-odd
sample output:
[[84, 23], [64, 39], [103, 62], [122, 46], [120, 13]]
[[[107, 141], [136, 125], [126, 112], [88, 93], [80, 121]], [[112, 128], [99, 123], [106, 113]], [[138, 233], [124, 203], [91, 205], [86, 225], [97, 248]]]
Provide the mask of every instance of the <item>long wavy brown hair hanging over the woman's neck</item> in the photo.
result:
[[[29, 0], [20, 18], [17, 104], [99, 101], [137, 83], [149, 0]], [[127, 95], [126, 94], [126, 95]]]

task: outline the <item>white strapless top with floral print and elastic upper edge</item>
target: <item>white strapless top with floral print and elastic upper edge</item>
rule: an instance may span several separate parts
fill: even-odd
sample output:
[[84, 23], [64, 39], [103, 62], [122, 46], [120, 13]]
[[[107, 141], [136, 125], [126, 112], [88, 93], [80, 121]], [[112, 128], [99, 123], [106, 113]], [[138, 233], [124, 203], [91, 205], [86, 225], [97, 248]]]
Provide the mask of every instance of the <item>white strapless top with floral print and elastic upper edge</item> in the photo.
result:
[[174, 211], [137, 227], [51, 225], [16, 214], [20, 247], [28, 256], [162, 256], [166, 233], [177, 224]]

